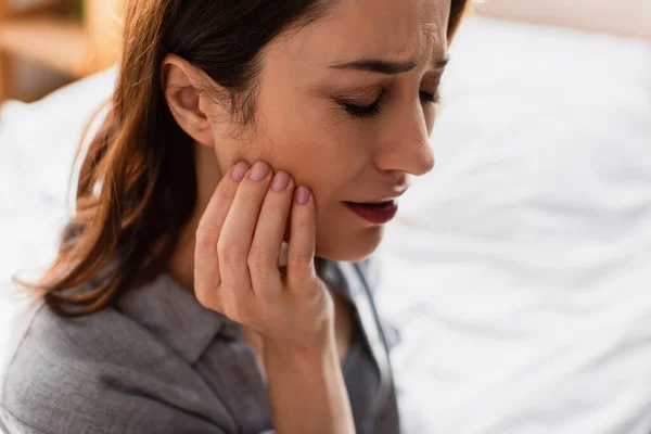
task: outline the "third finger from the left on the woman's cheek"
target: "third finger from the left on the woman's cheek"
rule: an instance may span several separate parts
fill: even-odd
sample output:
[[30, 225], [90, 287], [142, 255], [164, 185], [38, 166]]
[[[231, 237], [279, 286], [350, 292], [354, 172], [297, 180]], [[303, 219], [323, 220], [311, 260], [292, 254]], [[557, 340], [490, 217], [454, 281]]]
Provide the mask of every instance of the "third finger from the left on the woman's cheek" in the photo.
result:
[[271, 181], [248, 252], [248, 272], [254, 291], [280, 290], [279, 255], [288, 225], [294, 181], [286, 171], [278, 171]]

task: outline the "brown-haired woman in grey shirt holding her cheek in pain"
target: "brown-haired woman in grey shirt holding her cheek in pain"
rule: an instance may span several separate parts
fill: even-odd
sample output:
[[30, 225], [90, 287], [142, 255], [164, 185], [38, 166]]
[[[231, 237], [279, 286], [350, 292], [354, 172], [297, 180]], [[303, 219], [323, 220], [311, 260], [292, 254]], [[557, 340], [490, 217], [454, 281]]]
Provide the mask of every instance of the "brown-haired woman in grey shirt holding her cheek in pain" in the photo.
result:
[[433, 166], [464, 9], [129, 1], [112, 111], [2, 375], [9, 429], [398, 432], [366, 258]]

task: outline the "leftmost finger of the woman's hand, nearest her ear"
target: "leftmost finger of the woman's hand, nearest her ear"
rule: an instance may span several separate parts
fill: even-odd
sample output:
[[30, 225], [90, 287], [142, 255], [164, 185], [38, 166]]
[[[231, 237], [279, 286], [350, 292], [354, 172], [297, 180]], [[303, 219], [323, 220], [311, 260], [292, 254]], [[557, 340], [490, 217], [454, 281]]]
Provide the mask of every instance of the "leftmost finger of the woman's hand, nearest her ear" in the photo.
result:
[[196, 229], [194, 292], [205, 306], [214, 307], [217, 303], [216, 292], [221, 280], [217, 245], [238, 186], [248, 168], [248, 164], [240, 162], [219, 181]]

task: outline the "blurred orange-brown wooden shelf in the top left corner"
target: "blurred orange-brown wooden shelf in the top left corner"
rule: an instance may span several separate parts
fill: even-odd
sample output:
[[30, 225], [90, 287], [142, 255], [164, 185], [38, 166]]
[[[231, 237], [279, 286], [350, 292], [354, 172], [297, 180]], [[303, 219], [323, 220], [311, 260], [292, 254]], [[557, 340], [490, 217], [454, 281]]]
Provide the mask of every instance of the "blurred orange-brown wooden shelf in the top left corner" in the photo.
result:
[[0, 0], [0, 101], [34, 101], [117, 60], [124, 0]]

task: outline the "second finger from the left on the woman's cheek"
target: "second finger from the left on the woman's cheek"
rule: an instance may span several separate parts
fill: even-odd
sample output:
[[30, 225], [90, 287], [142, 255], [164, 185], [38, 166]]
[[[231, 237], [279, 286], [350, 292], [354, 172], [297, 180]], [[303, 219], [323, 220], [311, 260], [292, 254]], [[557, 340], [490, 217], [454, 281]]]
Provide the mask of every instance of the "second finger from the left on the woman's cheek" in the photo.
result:
[[269, 190], [272, 170], [268, 164], [256, 163], [240, 186], [224, 222], [217, 246], [222, 284], [233, 295], [251, 290], [248, 251], [265, 195]]

